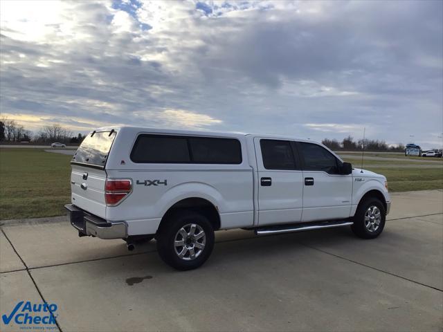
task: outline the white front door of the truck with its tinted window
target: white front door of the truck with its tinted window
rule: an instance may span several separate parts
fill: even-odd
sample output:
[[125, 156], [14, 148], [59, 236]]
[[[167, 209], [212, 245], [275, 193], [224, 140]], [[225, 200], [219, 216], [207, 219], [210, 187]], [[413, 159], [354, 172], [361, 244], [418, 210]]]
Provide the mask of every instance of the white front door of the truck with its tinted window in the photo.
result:
[[352, 174], [338, 174], [341, 161], [321, 145], [297, 142], [297, 146], [304, 178], [302, 221], [348, 218]]

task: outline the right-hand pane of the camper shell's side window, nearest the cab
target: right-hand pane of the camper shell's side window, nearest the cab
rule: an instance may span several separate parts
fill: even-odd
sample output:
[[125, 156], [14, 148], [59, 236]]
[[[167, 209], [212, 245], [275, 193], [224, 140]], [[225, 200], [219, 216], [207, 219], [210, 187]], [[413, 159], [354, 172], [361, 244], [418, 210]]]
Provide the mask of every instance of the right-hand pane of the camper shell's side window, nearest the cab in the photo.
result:
[[230, 138], [189, 138], [193, 163], [240, 164], [242, 148]]

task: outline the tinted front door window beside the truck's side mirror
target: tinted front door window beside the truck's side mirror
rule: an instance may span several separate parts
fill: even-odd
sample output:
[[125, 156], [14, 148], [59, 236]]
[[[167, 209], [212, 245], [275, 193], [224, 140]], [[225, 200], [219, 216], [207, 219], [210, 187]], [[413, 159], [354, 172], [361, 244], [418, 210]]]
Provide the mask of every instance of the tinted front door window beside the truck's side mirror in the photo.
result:
[[305, 169], [311, 171], [337, 172], [337, 159], [320, 145], [300, 142], [300, 153], [305, 160]]

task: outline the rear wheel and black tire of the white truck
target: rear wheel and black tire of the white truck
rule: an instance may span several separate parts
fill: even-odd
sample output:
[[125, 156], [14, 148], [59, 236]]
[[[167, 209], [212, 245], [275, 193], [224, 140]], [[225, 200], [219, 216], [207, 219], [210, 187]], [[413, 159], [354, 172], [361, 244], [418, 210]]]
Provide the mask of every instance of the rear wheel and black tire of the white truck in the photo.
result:
[[213, 225], [206, 216], [181, 210], [163, 222], [156, 237], [161, 259], [177, 270], [203, 265], [214, 248]]

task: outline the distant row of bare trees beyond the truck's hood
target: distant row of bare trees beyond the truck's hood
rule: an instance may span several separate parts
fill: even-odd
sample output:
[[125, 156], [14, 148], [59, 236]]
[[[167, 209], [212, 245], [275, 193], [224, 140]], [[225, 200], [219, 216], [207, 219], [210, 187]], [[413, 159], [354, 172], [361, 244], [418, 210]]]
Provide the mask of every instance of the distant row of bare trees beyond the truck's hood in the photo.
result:
[[321, 142], [332, 150], [360, 151], [363, 147], [365, 150], [370, 151], [404, 151], [405, 149], [403, 143], [389, 146], [384, 140], [369, 140], [365, 138], [365, 140], [354, 141], [352, 136], [343, 138], [341, 142], [336, 139], [329, 140], [327, 138]]

